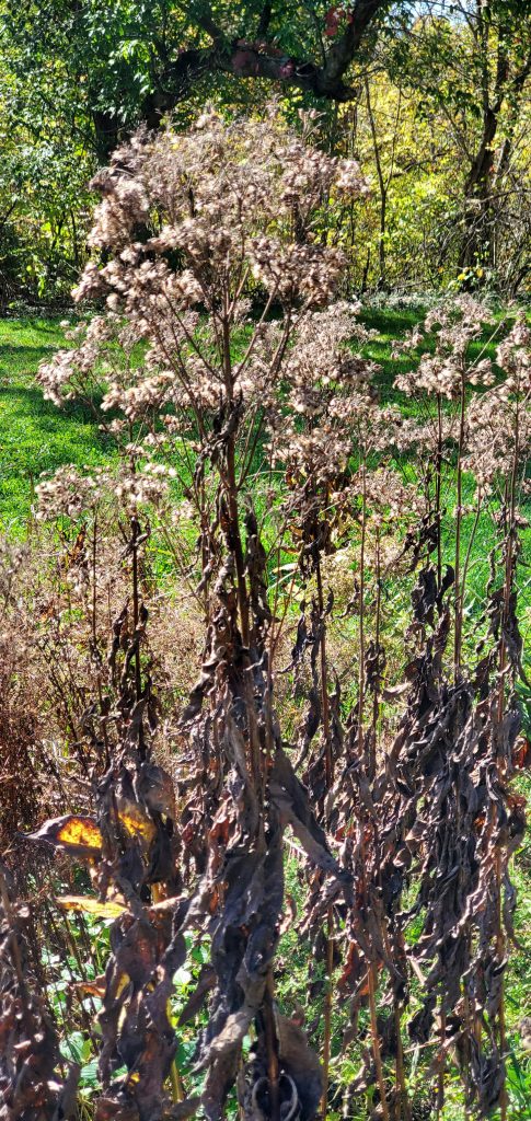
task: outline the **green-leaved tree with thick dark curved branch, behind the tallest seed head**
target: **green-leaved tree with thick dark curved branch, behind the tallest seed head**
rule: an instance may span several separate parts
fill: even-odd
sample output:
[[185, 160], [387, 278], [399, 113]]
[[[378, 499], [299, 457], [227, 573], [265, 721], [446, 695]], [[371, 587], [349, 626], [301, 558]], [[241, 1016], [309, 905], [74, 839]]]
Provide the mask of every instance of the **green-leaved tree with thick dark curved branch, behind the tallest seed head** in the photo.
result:
[[110, 9], [46, 0], [24, 13], [12, 0], [3, 7], [3, 34], [17, 44], [19, 67], [39, 75], [37, 100], [47, 61], [63, 59], [69, 95], [92, 117], [96, 151], [106, 156], [123, 124], [157, 126], [196, 89], [212, 95], [226, 76], [351, 100], [347, 72], [356, 57], [370, 55], [393, 4], [121, 0]]

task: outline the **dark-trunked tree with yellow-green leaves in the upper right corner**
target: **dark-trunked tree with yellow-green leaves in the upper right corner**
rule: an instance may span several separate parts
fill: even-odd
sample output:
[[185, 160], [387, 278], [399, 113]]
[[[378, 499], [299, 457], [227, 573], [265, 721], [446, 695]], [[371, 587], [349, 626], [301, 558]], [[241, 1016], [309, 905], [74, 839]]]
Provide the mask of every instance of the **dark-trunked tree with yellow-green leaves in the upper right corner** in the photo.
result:
[[390, 72], [442, 113], [457, 146], [464, 168], [458, 267], [494, 268], [529, 93], [529, 4], [442, 0], [395, 40]]

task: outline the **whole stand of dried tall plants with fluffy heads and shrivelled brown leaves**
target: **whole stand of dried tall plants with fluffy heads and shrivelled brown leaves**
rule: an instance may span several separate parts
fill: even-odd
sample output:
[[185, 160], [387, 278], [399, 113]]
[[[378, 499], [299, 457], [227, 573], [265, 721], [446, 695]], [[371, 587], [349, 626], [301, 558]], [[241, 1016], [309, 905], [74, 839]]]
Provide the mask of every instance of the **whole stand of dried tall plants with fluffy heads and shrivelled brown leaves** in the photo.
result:
[[[39, 373], [58, 405], [86, 399], [120, 452], [117, 471], [63, 470], [38, 488], [43, 519], [82, 525], [72, 595], [94, 620], [85, 812], [34, 837], [90, 871], [92, 896], [65, 896], [63, 910], [113, 919], [99, 1121], [215, 1121], [234, 1087], [253, 1121], [341, 1109], [412, 1121], [419, 1055], [431, 1115], [458, 1077], [471, 1117], [509, 1117], [529, 331], [515, 319], [493, 370], [471, 350], [487, 309], [454, 300], [408, 341], [435, 332], [435, 352], [398, 382], [422, 395], [425, 421], [381, 406], [357, 308], [338, 298], [345, 261], [318, 232], [324, 207], [361, 205], [366, 184], [355, 163], [311, 148], [310, 128], [207, 113], [119, 149], [96, 180], [94, 261], [76, 294], [99, 311]], [[105, 649], [94, 558], [111, 501], [130, 590]], [[490, 518], [492, 580], [472, 614], [471, 543]], [[204, 634], [164, 767], [155, 538]], [[409, 600], [398, 654], [394, 606], [403, 617]], [[291, 918], [287, 859], [302, 897]], [[47, 1012], [24, 960], [25, 911], [2, 883], [3, 1088], [34, 1054], [28, 1017]], [[318, 965], [311, 1041], [298, 979], [279, 989], [289, 921], [310, 976]], [[176, 1023], [174, 978], [197, 942], [209, 960]], [[38, 1072], [41, 1115], [72, 1112], [76, 1069], [60, 1066], [52, 1029]], [[34, 1108], [24, 1087], [12, 1115]]]

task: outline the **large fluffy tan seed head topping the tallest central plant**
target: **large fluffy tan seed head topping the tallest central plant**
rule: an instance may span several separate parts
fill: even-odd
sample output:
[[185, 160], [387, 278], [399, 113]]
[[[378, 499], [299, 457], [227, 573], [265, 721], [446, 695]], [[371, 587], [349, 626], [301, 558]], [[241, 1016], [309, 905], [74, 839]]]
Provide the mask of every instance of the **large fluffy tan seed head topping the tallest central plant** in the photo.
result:
[[[329, 306], [345, 262], [316, 222], [366, 192], [357, 164], [308, 147], [274, 115], [227, 127], [207, 113], [184, 135], [139, 132], [94, 186], [97, 259], [75, 298], [104, 311], [69, 332], [71, 349], [39, 378], [57, 404], [97, 397], [103, 427], [123, 450], [134, 444], [128, 494], [160, 481], [156, 463], [141, 485], [138, 470], [140, 448], [157, 455], [147, 442], [160, 419], [169, 439], [198, 433], [213, 460], [229, 429], [246, 424], [252, 447], [263, 423], [285, 460], [337, 472], [352, 423], [372, 408], [375, 367], [352, 350], [366, 337], [357, 308]], [[39, 488], [43, 509], [54, 498], [72, 513], [83, 501], [60, 474]]]

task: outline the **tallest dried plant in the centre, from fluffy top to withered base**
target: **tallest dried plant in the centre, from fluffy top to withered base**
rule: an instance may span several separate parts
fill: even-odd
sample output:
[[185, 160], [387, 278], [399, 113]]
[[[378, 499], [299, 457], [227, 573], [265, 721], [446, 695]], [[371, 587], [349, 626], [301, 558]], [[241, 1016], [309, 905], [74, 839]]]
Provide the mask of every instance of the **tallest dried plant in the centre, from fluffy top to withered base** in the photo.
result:
[[[350, 882], [281, 744], [269, 664], [269, 558], [249, 476], [266, 441], [269, 470], [278, 470], [288, 436], [289, 454], [309, 455], [314, 471], [325, 454], [330, 460], [332, 453], [330, 462], [345, 458], [346, 433], [337, 433], [335, 447], [325, 432], [315, 432], [307, 445], [296, 418], [313, 411], [323, 379], [328, 396], [338, 387], [339, 399], [364, 377], [363, 363], [345, 345], [351, 308], [326, 309], [342, 256], [313, 232], [323, 201], [332, 207], [358, 194], [363, 180], [355, 164], [307, 148], [274, 119], [227, 128], [212, 115], [187, 136], [139, 136], [96, 186], [103, 201], [92, 243], [106, 263], [87, 268], [77, 295], [104, 299], [106, 311], [77, 332], [73, 350], [43, 369], [41, 380], [54, 399], [74, 391], [93, 398], [101, 373], [102, 409], [114, 414], [109, 429], [123, 448], [121, 487], [133, 530], [142, 501], [155, 498], [164, 506], [173, 479], [186, 476], [181, 442], [192, 451], [184, 481], [201, 526], [197, 580], [207, 629], [203, 669], [181, 726], [197, 752], [189, 785], [194, 768], [201, 781], [206, 756], [212, 797], [199, 827], [203, 872], [189, 884], [186, 909], [176, 909], [174, 929], [181, 939], [190, 926], [206, 928], [212, 939], [215, 986], [199, 1041], [203, 1106], [207, 1117], [220, 1117], [237, 1081], [245, 1115], [260, 1108], [279, 1121], [297, 1105], [310, 1118], [323, 1095], [322, 1076], [308, 1058], [308, 1082], [302, 1059], [310, 1053], [301, 1031], [298, 1067], [283, 1050], [287, 1028], [274, 1001], [286, 826], [323, 877], [335, 881], [332, 897], [348, 895]], [[244, 296], [253, 284], [263, 299], [258, 318]], [[274, 318], [273, 305], [280, 311]], [[323, 614], [322, 589], [319, 602]], [[326, 713], [325, 647], [323, 659]], [[138, 643], [132, 665], [140, 695]], [[330, 785], [329, 754], [327, 760]], [[196, 812], [193, 797], [187, 819]], [[332, 942], [330, 907], [326, 916]], [[251, 1026], [255, 1045], [242, 1066]], [[132, 1097], [140, 1102], [140, 1095], [141, 1086]], [[123, 1109], [129, 1096], [127, 1083]]]

